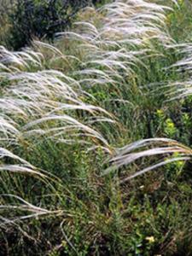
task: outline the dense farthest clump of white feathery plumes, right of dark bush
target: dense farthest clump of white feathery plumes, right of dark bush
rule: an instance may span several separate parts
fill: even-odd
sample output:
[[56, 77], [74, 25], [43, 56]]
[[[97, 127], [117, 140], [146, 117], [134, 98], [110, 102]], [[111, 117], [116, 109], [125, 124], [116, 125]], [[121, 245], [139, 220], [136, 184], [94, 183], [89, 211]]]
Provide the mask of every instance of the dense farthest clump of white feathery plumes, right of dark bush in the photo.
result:
[[76, 22], [73, 32], [58, 33], [78, 42], [83, 53], [82, 67], [73, 73], [79, 83], [112, 84], [118, 88], [119, 82], [134, 73], [133, 67], [143, 65], [141, 58], [154, 51], [150, 42], [171, 44], [166, 9], [170, 8], [143, 0], [115, 1], [97, 10], [102, 14], [98, 24]]

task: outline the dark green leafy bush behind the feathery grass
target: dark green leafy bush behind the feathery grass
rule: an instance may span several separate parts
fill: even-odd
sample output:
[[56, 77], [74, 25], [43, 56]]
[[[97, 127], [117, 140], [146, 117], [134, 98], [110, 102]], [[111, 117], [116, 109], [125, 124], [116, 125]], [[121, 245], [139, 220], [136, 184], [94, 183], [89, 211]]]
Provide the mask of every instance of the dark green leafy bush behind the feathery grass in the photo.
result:
[[9, 44], [14, 49], [20, 49], [29, 44], [32, 38], [53, 40], [55, 32], [64, 31], [71, 25], [79, 9], [93, 2], [90, 0], [17, 0], [9, 14], [11, 23]]

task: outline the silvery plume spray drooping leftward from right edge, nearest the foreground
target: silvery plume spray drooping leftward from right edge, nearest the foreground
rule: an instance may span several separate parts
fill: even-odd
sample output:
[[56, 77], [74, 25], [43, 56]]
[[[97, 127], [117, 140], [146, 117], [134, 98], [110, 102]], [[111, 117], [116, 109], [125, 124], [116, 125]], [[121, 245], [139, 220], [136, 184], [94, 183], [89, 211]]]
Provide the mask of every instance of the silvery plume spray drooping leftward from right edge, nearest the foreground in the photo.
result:
[[[175, 153], [179, 154], [179, 157], [174, 157]], [[125, 177], [121, 180], [121, 183], [124, 183], [133, 177], [142, 175], [145, 172], [152, 171], [160, 166], [165, 166], [173, 161], [190, 160], [192, 150], [181, 143], [177, 143], [176, 141], [167, 138], [150, 138], [140, 140], [123, 148], [118, 148], [116, 154], [108, 160], [108, 163], [111, 166], [108, 167], [104, 174], [118, 170], [120, 167], [128, 166], [137, 160], [147, 157], [151, 158], [158, 155], [160, 155], [161, 158], [163, 157], [163, 159], [152, 166], [148, 166], [139, 172]]]

